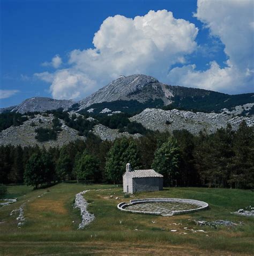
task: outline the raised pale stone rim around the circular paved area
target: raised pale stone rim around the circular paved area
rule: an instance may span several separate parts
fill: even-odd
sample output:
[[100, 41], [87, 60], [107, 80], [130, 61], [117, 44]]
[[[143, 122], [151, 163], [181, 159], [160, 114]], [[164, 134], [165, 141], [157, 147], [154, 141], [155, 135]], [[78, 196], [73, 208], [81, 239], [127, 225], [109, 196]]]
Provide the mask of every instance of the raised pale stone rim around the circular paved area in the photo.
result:
[[[195, 209], [184, 209], [184, 210], [171, 210], [170, 213], [165, 214], [161, 211], [143, 211], [143, 210], [130, 210], [125, 209], [129, 206], [135, 206], [136, 204], [146, 204], [146, 203], [187, 203], [187, 204], [195, 204], [197, 208]], [[152, 215], [161, 215], [161, 216], [173, 216], [173, 215], [180, 215], [180, 214], [187, 214], [187, 213], [193, 213], [195, 211], [204, 210], [209, 207], [208, 203], [199, 201], [199, 200], [193, 200], [193, 199], [183, 199], [183, 198], [145, 198], [145, 199], [134, 199], [130, 200], [130, 202], [121, 202], [117, 205], [117, 208], [122, 211], [127, 211], [130, 213], [139, 213], [139, 214], [152, 214]]]

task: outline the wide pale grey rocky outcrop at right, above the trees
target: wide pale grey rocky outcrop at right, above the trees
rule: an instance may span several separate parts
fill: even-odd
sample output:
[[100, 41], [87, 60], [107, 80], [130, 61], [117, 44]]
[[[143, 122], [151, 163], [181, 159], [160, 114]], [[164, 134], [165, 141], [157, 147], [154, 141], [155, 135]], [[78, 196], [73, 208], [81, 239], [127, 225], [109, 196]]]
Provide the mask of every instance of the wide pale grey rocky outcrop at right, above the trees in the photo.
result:
[[227, 123], [237, 129], [240, 123], [245, 120], [248, 126], [254, 126], [254, 118], [231, 116], [227, 114], [203, 113], [180, 111], [173, 109], [164, 111], [162, 109], [146, 108], [138, 115], [132, 116], [131, 121], [141, 123], [145, 128], [159, 131], [170, 131], [186, 129], [192, 134], [201, 130], [207, 133], [214, 133], [218, 128], [226, 127]]

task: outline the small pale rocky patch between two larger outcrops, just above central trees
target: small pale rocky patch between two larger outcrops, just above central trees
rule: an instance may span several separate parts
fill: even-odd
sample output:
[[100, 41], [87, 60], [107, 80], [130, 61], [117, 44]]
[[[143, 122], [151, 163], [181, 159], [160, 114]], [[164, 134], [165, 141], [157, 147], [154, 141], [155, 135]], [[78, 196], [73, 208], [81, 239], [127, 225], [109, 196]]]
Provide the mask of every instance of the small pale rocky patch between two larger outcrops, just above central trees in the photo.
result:
[[133, 134], [132, 135], [127, 132], [119, 133], [118, 130], [110, 129], [101, 124], [94, 126], [93, 134], [100, 137], [101, 140], [103, 140], [103, 141], [114, 141], [116, 138], [121, 138], [121, 137], [139, 138], [140, 136], [142, 136], [141, 134]]

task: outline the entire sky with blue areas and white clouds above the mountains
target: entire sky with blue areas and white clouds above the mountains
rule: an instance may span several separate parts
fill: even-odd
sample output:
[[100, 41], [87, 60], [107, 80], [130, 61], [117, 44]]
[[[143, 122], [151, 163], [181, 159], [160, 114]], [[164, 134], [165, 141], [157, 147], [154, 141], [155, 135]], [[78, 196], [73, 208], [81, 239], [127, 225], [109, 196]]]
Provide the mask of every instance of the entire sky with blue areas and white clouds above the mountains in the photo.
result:
[[249, 0], [2, 0], [0, 107], [34, 96], [79, 100], [139, 72], [253, 92], [251, 10]]

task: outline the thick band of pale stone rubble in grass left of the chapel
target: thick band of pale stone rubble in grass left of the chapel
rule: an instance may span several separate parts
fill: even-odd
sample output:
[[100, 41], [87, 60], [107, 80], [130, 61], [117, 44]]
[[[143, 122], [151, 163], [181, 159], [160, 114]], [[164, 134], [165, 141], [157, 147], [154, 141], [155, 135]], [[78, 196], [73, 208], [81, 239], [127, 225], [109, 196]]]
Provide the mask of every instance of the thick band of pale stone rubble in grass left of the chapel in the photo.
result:
[[88, 191], [89, 190], [78, 193], [75, 198], [74, 208], [80, 209], [80, 215], [82, 218], [82, 222], [79, 224], [78, 229], [84, 229], [86, 225], [88, 225], [95, 219], [95, 216], [91, 213], [88, 213], [88, 211], [86, 210], [88, 203], [84, 199], [83, 195]]

